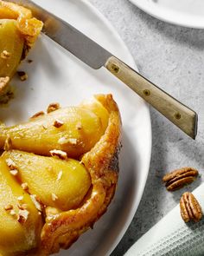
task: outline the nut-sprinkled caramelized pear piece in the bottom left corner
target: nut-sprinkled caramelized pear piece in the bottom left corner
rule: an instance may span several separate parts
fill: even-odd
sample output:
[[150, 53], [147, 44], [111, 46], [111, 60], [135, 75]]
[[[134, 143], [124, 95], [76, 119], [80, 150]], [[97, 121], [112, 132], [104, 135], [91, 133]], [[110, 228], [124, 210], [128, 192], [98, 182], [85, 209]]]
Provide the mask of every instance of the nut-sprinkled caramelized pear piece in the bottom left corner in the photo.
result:
[[[14, 255], [37, 246], [41, 234], [41, 216], [29, 194], [22, 190], [16, 177], [10, 174], [2, 157], [0, 170], [0, 254]], [[25, 212], [21, 212], [19, 206], [25, 207]], [[25, 214], [25, 218], [21, 215], [20, 220], [19, 214]]]

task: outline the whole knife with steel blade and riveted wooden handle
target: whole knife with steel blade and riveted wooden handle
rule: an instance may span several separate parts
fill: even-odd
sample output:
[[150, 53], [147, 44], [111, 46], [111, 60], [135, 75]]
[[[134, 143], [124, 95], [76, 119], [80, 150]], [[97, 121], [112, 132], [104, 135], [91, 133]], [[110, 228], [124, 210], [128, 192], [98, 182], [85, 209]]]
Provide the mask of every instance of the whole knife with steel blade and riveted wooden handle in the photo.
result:
[[42, 9], [39, 5], [30, 0], [7, 1], [32, 10], [33, 15], [44, 23], [42, 32], [53, 39], [54, 42], [59, 43], [92, 69], [105, 67], [137, 95], [140, 95], [144, 101], [149, 102], [169, 121], [172, 121], [184, 133], [195, 139], [198, 116], [192, 109], [175, 100], [163, 89], [158, 88], [143, 75], [119, 60], [118, 57], [113, 56], [98, 43], [76, 30], [71, 24]]

